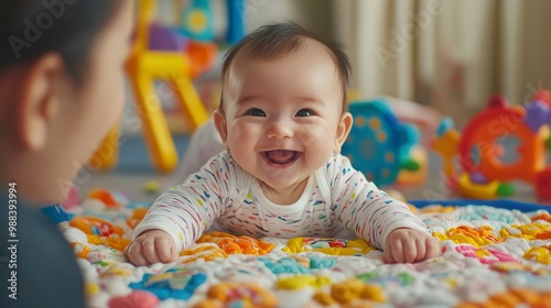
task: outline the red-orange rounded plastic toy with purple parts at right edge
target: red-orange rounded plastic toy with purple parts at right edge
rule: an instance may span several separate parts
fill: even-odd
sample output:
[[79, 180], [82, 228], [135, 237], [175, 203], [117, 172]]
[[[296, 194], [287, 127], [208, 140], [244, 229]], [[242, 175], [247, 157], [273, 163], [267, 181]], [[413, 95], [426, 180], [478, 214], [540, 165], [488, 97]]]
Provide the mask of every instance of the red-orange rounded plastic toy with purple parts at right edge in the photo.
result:
[[[551, 124], [549, 91], [537, 92], [525, 107], [511, 107], [500, 96], [471, 120], [460, 134], [450, 120], [442, 122], [433, 148], [444, 160], [452, 188], [466, 197], [490, 199], [514, 194], [511, 180], [536, 187], [540, 199], [551, 199], [551, 166], [547, 164]], [[506, 151], [500, 142], [519, 143]], [[506, 155], [509, 154], [509, 155]], [[457, 156], [458, 169], [453, 160]], [[511, 161], [511, 157], [517, 156]], [[514, 157], [515, 158], [515, 157]]]

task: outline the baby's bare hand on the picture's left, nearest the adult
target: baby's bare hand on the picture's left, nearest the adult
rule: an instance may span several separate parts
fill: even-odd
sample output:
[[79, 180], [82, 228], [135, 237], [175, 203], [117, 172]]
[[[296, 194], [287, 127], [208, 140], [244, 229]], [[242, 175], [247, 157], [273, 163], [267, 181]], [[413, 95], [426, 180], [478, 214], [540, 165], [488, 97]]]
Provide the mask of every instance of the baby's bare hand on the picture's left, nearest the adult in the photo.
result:
[[179, 254], [172, 237], [161, 230], [141, 233], [125, 251], [125, 256], [136, 266], [176, 261]]

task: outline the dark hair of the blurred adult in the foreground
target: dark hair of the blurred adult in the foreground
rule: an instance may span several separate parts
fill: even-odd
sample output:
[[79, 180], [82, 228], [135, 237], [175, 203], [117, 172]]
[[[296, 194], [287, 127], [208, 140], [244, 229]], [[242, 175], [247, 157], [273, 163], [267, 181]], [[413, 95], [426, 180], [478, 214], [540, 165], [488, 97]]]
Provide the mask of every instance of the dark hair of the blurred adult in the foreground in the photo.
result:
[[60, 53], [77, 81], [117, 0], [0, 0], [0, 72]]

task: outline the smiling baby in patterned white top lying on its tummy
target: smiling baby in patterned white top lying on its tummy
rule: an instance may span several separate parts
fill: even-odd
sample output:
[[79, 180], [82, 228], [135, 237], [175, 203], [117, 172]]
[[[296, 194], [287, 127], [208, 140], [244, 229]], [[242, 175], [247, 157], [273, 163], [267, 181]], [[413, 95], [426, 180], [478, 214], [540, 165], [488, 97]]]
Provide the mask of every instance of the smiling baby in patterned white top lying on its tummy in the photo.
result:
[[214, 122], [226, 147], [165, 191], [134, 230], [130, 262], [172, 262], [214, 223], [249, 237], [354, 232], [387, 263], [441, 254], [409, 208], [339, 154], [350, 127], [347, 56], [293, 24], [266, 25], [226, 55]]

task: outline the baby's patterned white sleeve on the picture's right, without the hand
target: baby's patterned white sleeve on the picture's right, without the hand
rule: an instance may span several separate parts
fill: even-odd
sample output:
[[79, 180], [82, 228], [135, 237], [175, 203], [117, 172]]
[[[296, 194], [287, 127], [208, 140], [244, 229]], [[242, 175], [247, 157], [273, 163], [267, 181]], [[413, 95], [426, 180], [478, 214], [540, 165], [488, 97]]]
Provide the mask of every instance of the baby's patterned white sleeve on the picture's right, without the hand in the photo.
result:
[[369, 244], [385, 248], [387, 235], [398, 228], [425, 231], [426, 227], [408, 206], [389, 197], [355, 170], [348, 158], [335, 155], [327, 165], [332, 210], [348, 230]]

